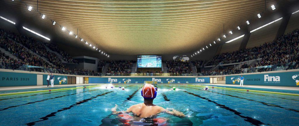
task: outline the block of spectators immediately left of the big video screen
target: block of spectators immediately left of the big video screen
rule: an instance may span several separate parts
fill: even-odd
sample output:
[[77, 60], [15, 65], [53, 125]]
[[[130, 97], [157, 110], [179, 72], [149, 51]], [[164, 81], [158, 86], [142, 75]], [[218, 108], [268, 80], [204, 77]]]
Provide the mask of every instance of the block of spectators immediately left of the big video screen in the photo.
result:
[[130, 76], [133, 61], [116, 60], [109, 62], [107, 76]]

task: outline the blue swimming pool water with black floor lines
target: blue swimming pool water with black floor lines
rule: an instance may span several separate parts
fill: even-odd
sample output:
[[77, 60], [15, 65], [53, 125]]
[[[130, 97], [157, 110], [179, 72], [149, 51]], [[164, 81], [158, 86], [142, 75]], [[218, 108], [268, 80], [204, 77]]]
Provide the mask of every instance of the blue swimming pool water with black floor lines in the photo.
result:
[[[118, 87], [118, 85], [115, 85]], [[104, 86], [0, 96], [1, 126], [55, 125], [298, 125], [298, 96], [227, 89], [201, 90], [191, 85], [158, 85], [154, 104], [183, 112], [179, 118], [165, 113], [140, 119], [112, 115], [143, 102], [142, 85]], [[167, 90], [176, 87], [176, 90]]]

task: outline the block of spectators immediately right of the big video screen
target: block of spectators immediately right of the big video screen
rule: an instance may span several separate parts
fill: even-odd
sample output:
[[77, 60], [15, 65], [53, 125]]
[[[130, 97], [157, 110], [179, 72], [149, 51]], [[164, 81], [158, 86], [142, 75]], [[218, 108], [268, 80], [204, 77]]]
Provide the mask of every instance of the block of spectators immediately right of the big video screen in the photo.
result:
[[172, 76], [191, 74], [192, 68], [189, 63], [190, 63], [189, 61], [167, 60], [166, 61], [167, 71]]

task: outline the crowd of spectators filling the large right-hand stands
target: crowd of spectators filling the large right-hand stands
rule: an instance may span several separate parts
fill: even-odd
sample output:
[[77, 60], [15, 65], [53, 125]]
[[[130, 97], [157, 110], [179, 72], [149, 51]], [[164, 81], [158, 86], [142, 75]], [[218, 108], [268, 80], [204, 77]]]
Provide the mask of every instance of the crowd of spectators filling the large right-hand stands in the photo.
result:
[[[237, 73], [264, 72], [273, 70], [288, 70], [299, 68], [299, 29], [285, 34], [273, 42], [265, 43], [259, 47], [248, 48], [232, 53], [221, 53], [215, 56], [210, 62], [214, 65], [217, 62], [233, 63], [262, 58], [257, 63], [248, 66], [241, 64], [240, 68], [223, 69], [214, 71], [203, 71], [202, 75], [224, 75]], [[229, 61], [231, 58], [237, 59]]]

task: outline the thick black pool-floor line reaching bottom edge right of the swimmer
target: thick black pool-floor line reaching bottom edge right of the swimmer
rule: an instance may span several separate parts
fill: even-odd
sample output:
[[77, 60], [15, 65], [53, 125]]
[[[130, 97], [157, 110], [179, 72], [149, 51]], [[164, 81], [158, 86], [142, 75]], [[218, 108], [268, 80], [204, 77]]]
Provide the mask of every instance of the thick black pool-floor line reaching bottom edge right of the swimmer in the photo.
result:
[[242, 116], [242, 115], [241, 115], [242, 113], [238, 112], [237, 110], [233, 110], [233, 109], [231, 109], [230, 107], [227, 107], [227, 106], [225, 106], [225, 105], [221, 105], [221, 104], [219, 104], [219, 103], [217, 103], [217, 102], [215, 102], [215, 101], [212, 101], [212, 100], [210, 100], [210, 99], [208, 99], [208, 98], [199, 96], [199, 95], [197, 95], [197, 94], [194, 94], [194, 93], [191, 93], [191, 92], [188, 92], [188, 91], [184, 91], [184, 92], [185, 92], [185, 93], [188, 93], [188, 94], [191, 94], [191, 95], [193, 95], [193, 96], [199, 97], [199, 98], [201, 98], [201, 99], [205, 99], [205, 100], [207, 100], [208, 102], [213, 102], [213, 103], [216, 104], [216, 106], [219, 106], [219, 107], [221, 107], [221, 108], [224, 108], [224, 109], [226, 109], [226, 110], [229, 110], [229, 111], [233, 112], [235, 115], [244, 118], [244, 121], [246, 121], [246, 122], [250, 122], [252, 125], [256, 125], [256, 126], [259, 126], [259, 125], [269, 125], [269, 124], [265, 124], [265, 123], [263, 123], [263, 122], [261, 122], [261, 121], [259, 121], [259, 120], [257, 120], [257, 119], [253, 119], [253, 118], [248, 117], [248, 116]]

